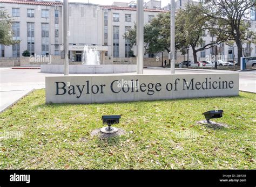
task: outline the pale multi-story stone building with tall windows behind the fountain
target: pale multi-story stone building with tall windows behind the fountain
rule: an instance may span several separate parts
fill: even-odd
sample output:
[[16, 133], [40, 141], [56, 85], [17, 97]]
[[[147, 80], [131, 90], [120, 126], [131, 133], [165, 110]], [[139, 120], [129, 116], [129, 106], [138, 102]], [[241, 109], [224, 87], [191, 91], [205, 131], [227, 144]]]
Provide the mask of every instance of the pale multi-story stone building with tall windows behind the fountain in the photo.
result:
[[[52, 0], [53, 1], [53, 0]], [[0, 0], [0, 9], [6, 10], [14, 19], [12, 26], [13, 39], [19, 44], [4, 46], [0, 44], [0, 57], [19, 57], [23, 51], [29, 50], [31, 55], [61, 55], [63, 50], [63, 8], [59, 1], [39, 0]], [[184, 9], [186, 3], [198, 3], [192, 0], [176, 1], [176, 10]], [[170, 11], [170, 5], [163, 9], [160, 1], [149, 1], [144, 4], [144, 24], [150, 23], [160, 12]], [[252, 10], [255, 12], [255, 10]], [[255, 14], [252, 16], [252, 27], [255, 31]], [[130, 41], [123, 36], [136, 23], [136, 1], [130, 3], [114, 2], [113, 5], [98, 5], [90, 3], [69, 3], [69, 53], [70, 61], [82, 61], [84, 46], [96, 48], [100, 53], [100, 61], [125, 61], [130, 57]], [[205, 34], [205, 44], [212, 41]], [[199, 46], [200, 47], [200, 46]], [[250, 48], [250, 56], [255, 56], [255, 44], [244, 44]], [[232, 51], [232, 53], [230, 53]], [[214, 54], [214, 50], [206, 49], [198, 52], [198, 60], [205, 60]], [[227, 59], [236, 59], [235, 44], [219, 45], [219, 54]], [[156, 57], [161, 54], [145, 54], [145, 57]], [[164, 53], [164, 56], [167, 56]], [[183, 56], [177, 53], [178, 62]], [[193, 60], [192, 51], [189, 58]], [[210, 59], [209, 59], [210, 60]]]

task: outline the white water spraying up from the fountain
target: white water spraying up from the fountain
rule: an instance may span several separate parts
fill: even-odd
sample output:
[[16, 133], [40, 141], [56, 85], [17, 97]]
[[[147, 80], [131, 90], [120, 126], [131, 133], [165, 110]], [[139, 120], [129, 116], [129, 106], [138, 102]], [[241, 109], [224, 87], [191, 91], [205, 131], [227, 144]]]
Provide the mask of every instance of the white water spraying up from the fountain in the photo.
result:
[[83, 52], [83, 65], [99, 65], [99, 52], [96, 48], [89, 48], [87, 45], [84, 46]]

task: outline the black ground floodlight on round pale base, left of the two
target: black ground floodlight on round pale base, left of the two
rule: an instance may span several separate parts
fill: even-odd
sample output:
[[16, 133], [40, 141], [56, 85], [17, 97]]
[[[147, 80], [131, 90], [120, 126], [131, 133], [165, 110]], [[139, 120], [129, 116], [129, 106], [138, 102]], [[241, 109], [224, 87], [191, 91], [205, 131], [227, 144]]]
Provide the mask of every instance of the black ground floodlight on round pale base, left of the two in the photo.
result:
[[111, 127], [111, 125], [119, 124], [119, 119], [121, 118], [120, 115], [114, 115], [114, 116], [102, 116], [102, 122], [103, 125], [107, 124], [107, 127], [102, 127], [100, 129], [100, 132], [102, 133], [116, 133], [118, 131], [118, 128]]

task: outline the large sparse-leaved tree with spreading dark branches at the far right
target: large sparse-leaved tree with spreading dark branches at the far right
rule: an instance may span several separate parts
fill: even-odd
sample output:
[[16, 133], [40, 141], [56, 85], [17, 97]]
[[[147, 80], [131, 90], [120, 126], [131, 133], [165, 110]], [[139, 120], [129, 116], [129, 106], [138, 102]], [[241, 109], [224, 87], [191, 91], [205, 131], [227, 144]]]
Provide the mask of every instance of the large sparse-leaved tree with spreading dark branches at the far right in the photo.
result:
[[200, 12], [208, 19], [211, 32], [222, 33], [223, 36], [232, 38], [238, 48], [238, 66], [242, 57], [242, 43], [245, 41], [254, 42], [255, 32], [250, 31], [249, 13], [255, 6], [255, 0], [205, 0]]

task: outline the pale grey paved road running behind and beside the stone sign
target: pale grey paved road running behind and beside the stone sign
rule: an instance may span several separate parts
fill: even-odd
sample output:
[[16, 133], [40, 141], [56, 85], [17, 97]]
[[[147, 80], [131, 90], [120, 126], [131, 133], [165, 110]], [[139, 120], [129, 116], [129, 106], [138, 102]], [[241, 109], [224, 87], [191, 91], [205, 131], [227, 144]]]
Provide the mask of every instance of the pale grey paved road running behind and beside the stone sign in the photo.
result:
[[[176, 69], [176, 74], [224, 73], [227, 70]], [[144, 68], [144, 74], [169, 74], [166, 68]], [[133, 75], [125, 73], [116, 75]], [[40, 69], [0, 68], [0, 112], [33, 89], [45, 88], [45, 76], [60, 74], [40, 73]], [[74, 75], [74, 74], [72, 74]], [[86, 74], [79, 74], [86, 75]], [[88, 74], [87, 74], [88, 75]], [[96, 74], [103, 75], [103, 74]], [[108, 74], [110, 75], [110, 74]], [[239, 90], [256, 93], [256, 70], [239, 71]]]

